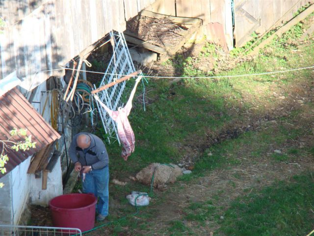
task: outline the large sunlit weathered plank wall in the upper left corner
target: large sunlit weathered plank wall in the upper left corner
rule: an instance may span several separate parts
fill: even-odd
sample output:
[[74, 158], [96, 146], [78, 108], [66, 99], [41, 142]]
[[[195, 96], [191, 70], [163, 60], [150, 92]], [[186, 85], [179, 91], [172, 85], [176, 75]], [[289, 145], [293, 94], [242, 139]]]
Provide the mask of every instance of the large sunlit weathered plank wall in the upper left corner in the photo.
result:
[[0, 80], [13, 71], [32, 89], [155, 0], [0, 0]]

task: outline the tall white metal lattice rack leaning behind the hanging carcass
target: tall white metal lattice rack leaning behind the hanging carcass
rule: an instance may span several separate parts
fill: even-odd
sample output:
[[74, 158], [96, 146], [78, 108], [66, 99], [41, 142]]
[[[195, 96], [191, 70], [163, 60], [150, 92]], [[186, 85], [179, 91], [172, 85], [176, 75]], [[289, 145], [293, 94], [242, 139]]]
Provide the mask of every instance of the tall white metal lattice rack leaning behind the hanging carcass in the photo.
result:
[[[127, 42], [122, 32], [113, 31], [110, 32], [110, 36], [114, 39], [114, 52], [109, 61], [108, 67], [105, 71], [105, 76], [99, 87], [102, 87], [112, 81], [115, 81], [123, 75], [128, 75], [135, 71], [130, 52], [127, 46]], [[112, 111], [116, 111], [117, 108], [123, 107], [121, 96], [125, 89], [126, 81], [118, 83], [108, 89], [102, 90], [98, 93], [100, 100]], [[109, 138], [120, 140], [117, 135], [116, 123], [109, 117], [104, 108], [97, 103], [98, 111], [105, 129], [105, 133], [109, 135]], [[110, 142], [110, 139], [108, 141]]]

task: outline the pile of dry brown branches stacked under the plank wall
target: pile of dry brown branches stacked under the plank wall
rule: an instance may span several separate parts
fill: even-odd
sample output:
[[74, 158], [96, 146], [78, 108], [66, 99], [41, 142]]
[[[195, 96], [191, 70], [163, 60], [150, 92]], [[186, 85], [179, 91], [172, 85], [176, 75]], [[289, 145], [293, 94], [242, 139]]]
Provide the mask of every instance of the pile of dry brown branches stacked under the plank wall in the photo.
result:
[[137, 34], [138, 38], [162, 48], [177, 45], [184, 38], [181, 34], [185, 30], [169, 17], [155, 19], [145, 16], [131, 19], [127, 29]]

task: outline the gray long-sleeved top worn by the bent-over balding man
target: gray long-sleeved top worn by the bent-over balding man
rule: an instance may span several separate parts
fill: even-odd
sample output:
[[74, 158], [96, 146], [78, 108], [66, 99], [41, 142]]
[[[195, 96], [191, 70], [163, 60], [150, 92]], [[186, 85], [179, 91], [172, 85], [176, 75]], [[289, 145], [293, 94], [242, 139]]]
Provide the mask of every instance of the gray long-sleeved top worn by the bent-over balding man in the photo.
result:
[[[84, 150], [77, 145], [77, 137], [80, 134], [86, 134], [90, 137], [90, 146]], [[76, 134], [73, 137], [69, 154], [74, 163], [79, 161], [82, 166], [92, 166], [93, 170], [103, 169], [109, 164], [109, 157], [104, 142], [96, 135], [90, 133]]]

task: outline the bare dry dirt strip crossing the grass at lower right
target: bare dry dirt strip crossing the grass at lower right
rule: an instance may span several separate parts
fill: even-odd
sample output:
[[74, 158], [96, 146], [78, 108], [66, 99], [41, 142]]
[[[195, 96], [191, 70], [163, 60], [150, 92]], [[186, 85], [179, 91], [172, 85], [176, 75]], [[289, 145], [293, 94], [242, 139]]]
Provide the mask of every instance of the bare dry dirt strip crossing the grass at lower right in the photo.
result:
[[[195, 202], [205, 202], [213, 200], [214, 206], [223, 212], [230, 207], [230, 203], [237, 197], [250, 192], [258, 192], [265, 186], [271, 185], [276, 180], [287, 180], [304, 172], [314, 171], [313, 156], [301, 156], [294, 162], [274, 162], [267, 157], [260, 160], [249, 161], [248, 156], [239, 156], [241, 164], [231, 169], [221, 169], [209, 172], [206, 177], [198, 178], [192, 183], [185, 184], [181, 182], [179, 186], [172, 187], [167, 192], [164, 199], [165, 204], [160, 204], [157, 209], [157, 221], [150, 225], [158, 224], [158, 228], [169, 227], [169, 222], [173, 220], [182, 220], [185, 215], [184, 209]], [[175, 206], [175, 207], [169, 207]], [[197, 222], [188, 222], [183, 220], [184, 224], [191, 226]], [[189, 225], [188, 225], [189, 224]], [[201, 232], [216, 231], [219, 225], [210, 222], [209, 225], [200, 226], [197, 224], [197, 235]], [[157, 234], [156, 234], [157, 235]]]

